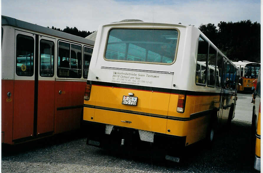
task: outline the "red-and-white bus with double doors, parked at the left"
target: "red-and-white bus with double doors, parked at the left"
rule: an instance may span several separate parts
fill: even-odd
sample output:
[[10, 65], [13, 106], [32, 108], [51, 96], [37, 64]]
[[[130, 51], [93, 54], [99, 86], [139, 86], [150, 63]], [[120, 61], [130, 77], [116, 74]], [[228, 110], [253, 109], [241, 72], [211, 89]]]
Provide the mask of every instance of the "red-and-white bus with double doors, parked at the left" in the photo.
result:
[[94, 41], [2, 19], [2, 143], [80, 128]]

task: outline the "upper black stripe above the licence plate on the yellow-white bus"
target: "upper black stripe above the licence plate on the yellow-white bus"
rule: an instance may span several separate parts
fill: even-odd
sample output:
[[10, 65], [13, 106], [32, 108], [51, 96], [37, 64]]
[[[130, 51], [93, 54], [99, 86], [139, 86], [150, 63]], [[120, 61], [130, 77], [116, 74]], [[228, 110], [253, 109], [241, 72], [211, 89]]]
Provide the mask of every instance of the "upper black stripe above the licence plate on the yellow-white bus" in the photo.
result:
[[87, 81], [87, 84], [127, 88], [127, 89], [138, 89], [138, 90], [153, 91], [153, 92], [164, 92], [164, 93], [172, 93], [172, 94], [185, 94], [185, 95], [193, 95], [193, 96], [220, 95], [220, 93], [215, 93], [215, 92], [186, 91], [186, 90], [180, 90], [180, 89], [168, 89], [168, 88], [158, 88], [158, 87], [150, 87], [150, 86], [118, 84], [118, 83], [101, 82], [101, 81]]

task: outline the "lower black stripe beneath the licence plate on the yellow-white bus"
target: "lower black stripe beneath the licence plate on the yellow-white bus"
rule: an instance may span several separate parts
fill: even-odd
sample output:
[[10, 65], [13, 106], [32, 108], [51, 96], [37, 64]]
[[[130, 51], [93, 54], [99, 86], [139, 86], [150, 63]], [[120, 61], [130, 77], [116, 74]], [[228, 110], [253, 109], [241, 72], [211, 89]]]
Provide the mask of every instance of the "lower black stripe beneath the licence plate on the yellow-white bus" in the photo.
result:
[[84, 104], [84, 107], [88, 108], [94, 108], [94, 109], [101, 109], [101, 110], [109, 110], [109, 111], [115, 111], [115, 112], [123, 112], [123, 113], [130, 113], [130, 114], [136, 114], [136, 115], [144, 115], [149, 117], [157, 117], [157, 118], [164, 118], [168, 120], [177, 120], [177, 121], [189, 121], [193, 120], [195, 118], [199, 118], [205, 115], [209, 115], [209, 113], [212, 112], [212, 110], [206, 110], [202, 112], [193, 113], [190, 115], [190, 117], [173, 117], [173, 116], [167, 116], [167, 115], [159, 115], [159, 114], [152, 114], [152, 113], [146, 113], [146, 112], [137, 112], [132, 110], [124, 110], [124, 109], [116, 109], [111, 107], [102, 107], [102, 106], [95, 106], [95, 105], [87, 105]]

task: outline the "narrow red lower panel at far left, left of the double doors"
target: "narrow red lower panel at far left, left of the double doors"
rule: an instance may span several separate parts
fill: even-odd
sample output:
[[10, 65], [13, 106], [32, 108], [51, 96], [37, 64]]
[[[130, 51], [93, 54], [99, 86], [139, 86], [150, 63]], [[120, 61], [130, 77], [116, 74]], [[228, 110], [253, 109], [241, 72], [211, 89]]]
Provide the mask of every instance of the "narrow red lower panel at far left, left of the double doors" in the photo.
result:
[[[11, 97], [7, 93], [11, 92]], [[14, 80], [2, 80], [2, 143], [12, 144]]]

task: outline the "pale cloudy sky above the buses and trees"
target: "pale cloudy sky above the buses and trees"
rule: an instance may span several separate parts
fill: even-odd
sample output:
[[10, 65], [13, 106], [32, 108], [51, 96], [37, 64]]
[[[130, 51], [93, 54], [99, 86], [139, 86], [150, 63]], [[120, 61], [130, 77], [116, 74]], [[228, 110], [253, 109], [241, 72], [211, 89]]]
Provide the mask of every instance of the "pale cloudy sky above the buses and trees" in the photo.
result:
[[260, 4], [260, 0], [2, 0], [1, 13], [45, 27], [95, 31], [123, 19], [195, 27], [248, 19], [260, 23]]

